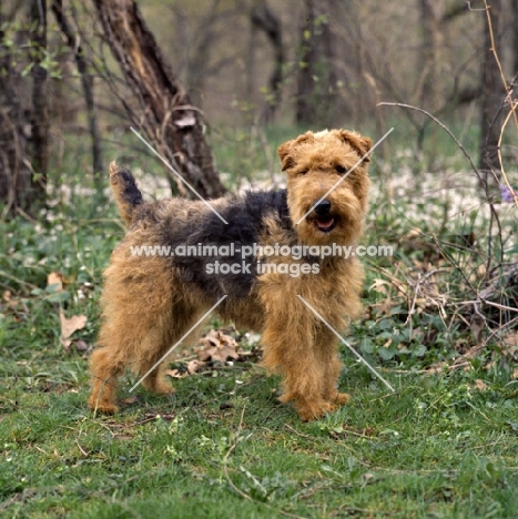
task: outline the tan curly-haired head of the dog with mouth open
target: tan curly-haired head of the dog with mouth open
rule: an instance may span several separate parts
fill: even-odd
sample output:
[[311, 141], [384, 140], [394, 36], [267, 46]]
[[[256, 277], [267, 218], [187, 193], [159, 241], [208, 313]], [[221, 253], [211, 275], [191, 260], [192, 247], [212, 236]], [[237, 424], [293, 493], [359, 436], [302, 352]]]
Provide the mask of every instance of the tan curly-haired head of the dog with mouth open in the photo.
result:
[[362, 234], [372, 145], [359, 133], [325, 130], [280, 146], [290, 215], [303, 243], [349, 245]]

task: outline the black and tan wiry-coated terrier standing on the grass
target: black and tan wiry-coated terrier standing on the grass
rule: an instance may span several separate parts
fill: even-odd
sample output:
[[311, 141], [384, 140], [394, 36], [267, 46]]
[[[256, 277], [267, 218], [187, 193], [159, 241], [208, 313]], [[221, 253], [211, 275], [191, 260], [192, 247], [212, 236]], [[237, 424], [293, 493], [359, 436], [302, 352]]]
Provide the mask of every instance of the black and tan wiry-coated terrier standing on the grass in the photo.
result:
[[[286, 142], [278, 156], [287, 190], [211, 201], [227, 224], [201, 201], [144, 202], [131, 173], [112, 164], [110, 181], [128, 234], [104, 274], [90, 407], [116, 411], [116, 379], [124, 368], [143, 376], [224, 295], [215, 313], [262, 332], [263, 364], [283, 376], [282, 401], [293, 400], [306, 420], [345, 404], [348, 395], [337, 390], [337, 339], [297, 296], [341, 332], [360, 313], [357, 258], [322, 258], [312, 246], [356, 244], [367, 208], [368, 159], [346, 172], [370, 147], [368, 138], [345, 130]], [[166, 246], [171, 254], [142, 254], [150, 246]], [[212, 254], [173, 255], [189, 246], [209, 246]], [[266, 246], [303, 254], [265, 255]], [[265, 261], [268, 268], [261, 268]], [[163, 366], [143, 379], [148, 389], [173, 390]]]

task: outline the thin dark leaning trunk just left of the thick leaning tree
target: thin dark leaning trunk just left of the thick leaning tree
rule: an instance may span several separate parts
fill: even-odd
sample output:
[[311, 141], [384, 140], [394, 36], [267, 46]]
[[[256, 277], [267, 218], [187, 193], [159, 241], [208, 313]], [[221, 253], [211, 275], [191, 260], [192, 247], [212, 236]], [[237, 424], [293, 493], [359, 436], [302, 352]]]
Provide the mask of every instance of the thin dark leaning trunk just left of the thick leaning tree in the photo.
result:
[[93, 77], [89, 73], [87, 58], [84, 57], [83, 49], [79, 43], [79, 38], [75, 34], [73, 26], [70, 23], [63, 11], [62, 0], [52, 0], [52, 11], [54, 13], [58, 26], [67, 39], [67, 44], [74, 53], [78, 71], [81, 75], [81, 83], [83, 88], [84, 101], [87, 103], [88, 123], [90, 129], [90, 136], [92, 139], [92, 165], [94, 180], [98, 185], [99, 175], [104, 171], [102, 161], [102, 140], [101, 130], [98, 123], [94, 96], [93, 96]]

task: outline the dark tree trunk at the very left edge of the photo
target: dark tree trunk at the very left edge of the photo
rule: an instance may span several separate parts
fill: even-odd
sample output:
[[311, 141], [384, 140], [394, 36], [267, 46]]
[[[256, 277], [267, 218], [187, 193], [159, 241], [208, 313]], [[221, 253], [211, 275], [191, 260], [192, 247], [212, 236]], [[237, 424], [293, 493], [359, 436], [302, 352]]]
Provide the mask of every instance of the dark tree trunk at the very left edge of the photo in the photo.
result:
[[12, 62], [12, 49], [4, 44], [4, 23], [0, 6], [0, 217], [28, 210], [32, 200], [31, 170], [27, 156], [26, 120], [21, 104], [21, 81]]

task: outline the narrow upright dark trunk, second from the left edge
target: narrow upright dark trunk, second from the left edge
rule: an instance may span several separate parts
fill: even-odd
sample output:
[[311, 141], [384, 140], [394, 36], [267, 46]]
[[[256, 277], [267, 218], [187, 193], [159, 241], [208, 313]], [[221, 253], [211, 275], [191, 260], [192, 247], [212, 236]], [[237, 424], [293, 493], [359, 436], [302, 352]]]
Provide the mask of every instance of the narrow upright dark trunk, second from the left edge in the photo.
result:
[[34, 201], [44, 202], [47, 173], [49, 170], [49, 109], [47, 70], [41, 65], [47, 60], [47, 0], [31, 1], [32, 65], [32, 119], [31, 163]]

